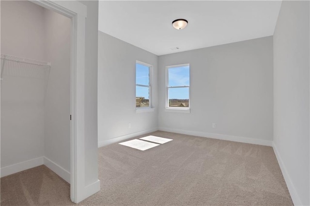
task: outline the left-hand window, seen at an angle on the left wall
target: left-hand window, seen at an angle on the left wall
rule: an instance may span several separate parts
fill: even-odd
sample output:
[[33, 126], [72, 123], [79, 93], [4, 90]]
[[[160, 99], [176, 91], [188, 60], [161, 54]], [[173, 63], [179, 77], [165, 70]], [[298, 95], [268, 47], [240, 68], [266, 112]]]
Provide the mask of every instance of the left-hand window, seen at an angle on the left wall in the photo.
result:
[[152, 65], [136, 61], [136, 108], [151, 108]]

